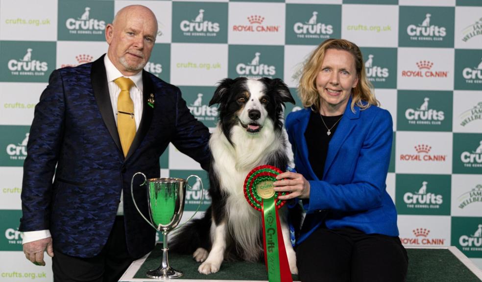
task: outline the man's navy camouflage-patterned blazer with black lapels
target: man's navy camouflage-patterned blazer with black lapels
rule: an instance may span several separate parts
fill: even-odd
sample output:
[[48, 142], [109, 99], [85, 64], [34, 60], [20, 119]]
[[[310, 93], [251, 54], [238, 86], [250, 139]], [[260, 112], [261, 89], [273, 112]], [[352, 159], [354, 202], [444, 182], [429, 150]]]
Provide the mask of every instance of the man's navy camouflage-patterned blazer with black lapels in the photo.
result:
[[[49, 229], [62, 253], [93, 257], [109, 237], [123, 191], [127, 248], [139, 258], [154, 247], [155, 230], [133, 205], [132, 175], [159, 177], [159, 157], [169, 142], [207, 169], [209, 130], [191, 115], [177, 87], [143, 71], [143, 115], [124, 158], [103, 60], [50, 75], [30, 128], [20, 230]], [[148, 217], [142, 180], [136, 177], [134, 196]]]

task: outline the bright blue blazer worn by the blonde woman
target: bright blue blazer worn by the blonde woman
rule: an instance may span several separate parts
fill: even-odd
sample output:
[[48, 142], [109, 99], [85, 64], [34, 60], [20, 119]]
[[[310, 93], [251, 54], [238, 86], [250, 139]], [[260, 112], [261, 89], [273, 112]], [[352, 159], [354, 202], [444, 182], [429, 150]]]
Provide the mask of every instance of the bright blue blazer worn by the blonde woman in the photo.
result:
[[290, 113], [286, 119], [296, 170], [311, 186], [310, 199], [303, 201], [307, 216], [297, 243], [323, 221], [330, 229], [353, 227], [366, 234], [398, 236], [397, 212], [385, 184], [392, 118], [375, 106], [363, 111], [355, 106], [353, 113], [350, 104], [351, 99], [328, 145], [323, 179], [308, 161], [305, 131], [311, 110]]

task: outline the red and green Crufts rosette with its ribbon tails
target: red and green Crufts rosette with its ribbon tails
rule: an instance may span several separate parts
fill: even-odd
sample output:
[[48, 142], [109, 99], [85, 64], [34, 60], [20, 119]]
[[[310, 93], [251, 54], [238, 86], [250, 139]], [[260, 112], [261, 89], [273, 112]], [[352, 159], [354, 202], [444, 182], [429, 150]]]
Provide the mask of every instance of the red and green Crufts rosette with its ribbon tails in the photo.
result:
[[263, 245], [269, 282], [293, 281], [278, 216], [278, 209], [286, 203], [278, 196], [286, 192], [279, 193], [273, 189], [276, 175], [282, 172], [275, 166], [260, 165], [253, 168], [244, 180], [244, 197], [253, 208], [262, 213]]

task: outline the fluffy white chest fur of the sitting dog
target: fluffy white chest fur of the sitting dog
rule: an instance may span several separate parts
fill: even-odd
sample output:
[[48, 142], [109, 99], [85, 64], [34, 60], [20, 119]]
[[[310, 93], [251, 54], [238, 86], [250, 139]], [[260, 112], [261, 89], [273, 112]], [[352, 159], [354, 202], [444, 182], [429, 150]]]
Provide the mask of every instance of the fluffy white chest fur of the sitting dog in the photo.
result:
[[[235, 126], [231, 135], [231, 140], [235, 143], [233, 146], [218, 126], [210, 140], [220, 188], [228, 195], [225, 206], [228, 213], [226, 218], [229, 219], [227, 227], [244, 250], [252, 250], [246, 252], [246, 260], [256, 260], [263, 249], [260, 247], [262, 242], [259, 241], [261, 214], [244, 198], [243, 185], [251, 169], [265, 164], [269, 153], [280, 148], [281, 142], [272, 127], [272, 122], [266, 121], [264, 130], [246, 138], [245, 129]], [[237, 134], [242, 134], [242, 138], [237, 138]]]

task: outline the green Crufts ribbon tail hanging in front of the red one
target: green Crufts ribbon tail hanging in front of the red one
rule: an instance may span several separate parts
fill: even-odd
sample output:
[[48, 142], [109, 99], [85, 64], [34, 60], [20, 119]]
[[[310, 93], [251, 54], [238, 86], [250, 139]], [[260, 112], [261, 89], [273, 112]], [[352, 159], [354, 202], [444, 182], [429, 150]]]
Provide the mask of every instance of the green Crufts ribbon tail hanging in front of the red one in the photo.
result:
[[265, 223], [265, 256], [268, 268], [268, 281], [280, 282], [281, 271], [274, 197], [263, 200], [263, 218]]

